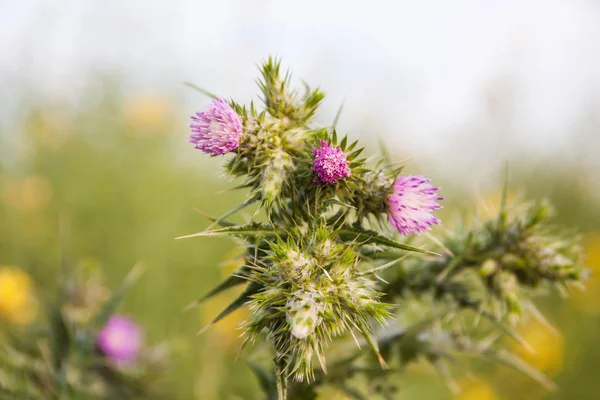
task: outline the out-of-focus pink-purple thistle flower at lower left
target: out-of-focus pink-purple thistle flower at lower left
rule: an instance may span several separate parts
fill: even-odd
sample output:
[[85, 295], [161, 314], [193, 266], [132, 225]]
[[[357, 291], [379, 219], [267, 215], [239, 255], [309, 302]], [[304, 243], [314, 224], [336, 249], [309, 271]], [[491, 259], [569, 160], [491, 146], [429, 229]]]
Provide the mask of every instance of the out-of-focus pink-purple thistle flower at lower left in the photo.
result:
[[112, 361], [129, 364], [137, 358], [142, 347], [142, 331], [129, 318], [112, 316], [98, 332], [96, 343]]

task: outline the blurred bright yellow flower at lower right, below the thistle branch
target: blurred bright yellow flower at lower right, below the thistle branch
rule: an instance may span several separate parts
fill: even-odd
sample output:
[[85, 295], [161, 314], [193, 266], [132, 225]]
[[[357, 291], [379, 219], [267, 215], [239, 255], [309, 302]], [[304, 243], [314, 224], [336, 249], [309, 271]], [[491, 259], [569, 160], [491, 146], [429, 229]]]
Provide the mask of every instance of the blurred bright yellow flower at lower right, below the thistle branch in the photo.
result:
[[545, 374], [557, 375], [563, 366], [565, 344], [562, 336], [537, 321], [527, 323], [520, 333], [534, 352], [527, 351], [519, 344], [515, 344], [514, 352]]

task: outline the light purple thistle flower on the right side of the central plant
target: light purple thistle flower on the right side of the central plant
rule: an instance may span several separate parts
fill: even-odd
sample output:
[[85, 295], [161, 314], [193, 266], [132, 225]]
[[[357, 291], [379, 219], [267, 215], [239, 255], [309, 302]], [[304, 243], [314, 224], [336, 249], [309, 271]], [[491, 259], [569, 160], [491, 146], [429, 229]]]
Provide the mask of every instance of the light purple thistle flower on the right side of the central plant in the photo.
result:
[[393, 192], [388, 197], [388, 219], [404, 236], [429, 230], [440, 221], [432, 211], [440, 209], [436, 194], [438, 188], [431, 186], [429, 179], [417, 176], [401, 176], [394, 182]]

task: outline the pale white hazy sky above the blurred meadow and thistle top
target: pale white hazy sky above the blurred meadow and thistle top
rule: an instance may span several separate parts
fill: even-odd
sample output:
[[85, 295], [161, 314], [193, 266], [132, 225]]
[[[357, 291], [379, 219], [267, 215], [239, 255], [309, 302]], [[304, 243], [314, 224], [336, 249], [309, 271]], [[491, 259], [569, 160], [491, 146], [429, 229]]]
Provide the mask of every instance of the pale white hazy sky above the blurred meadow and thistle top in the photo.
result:
[[189, 114], [208, 100], [182, 82], [250, 99], [276, 55], [328, 93], [322, 118], [344, 102], [341, 129], [400, 151], [577, 157], [600, 109], [599, 20], [595, 0], [0, 0], [0, 107], [23, 87], [77, 104], [101, 72]]

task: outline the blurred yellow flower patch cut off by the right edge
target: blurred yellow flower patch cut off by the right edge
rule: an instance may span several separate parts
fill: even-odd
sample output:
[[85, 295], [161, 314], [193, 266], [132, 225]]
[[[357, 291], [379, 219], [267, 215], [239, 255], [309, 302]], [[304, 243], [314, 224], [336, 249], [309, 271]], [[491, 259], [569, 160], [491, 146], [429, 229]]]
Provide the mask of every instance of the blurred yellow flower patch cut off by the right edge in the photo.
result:
[[600, 232], [587, 235], [584, 240], [586, 265], [590, 279], [584, 283], [585, 291], [573, 291], [571, 303], [590, 314], [600, 314]]

